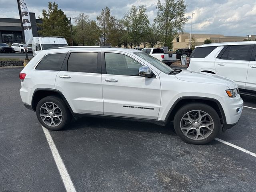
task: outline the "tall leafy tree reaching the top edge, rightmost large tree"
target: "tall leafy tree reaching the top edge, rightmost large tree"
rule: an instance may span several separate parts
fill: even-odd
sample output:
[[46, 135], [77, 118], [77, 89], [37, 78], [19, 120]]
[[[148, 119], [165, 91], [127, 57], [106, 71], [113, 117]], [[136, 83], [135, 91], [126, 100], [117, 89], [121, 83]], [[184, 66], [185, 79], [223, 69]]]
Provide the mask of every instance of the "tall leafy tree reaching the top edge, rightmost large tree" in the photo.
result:
[[172, 48], [174, 38], [184, 33], [184, 26], [188, 21], [185, 17], [186, 7], [184, 0], [164, 0], [163, 4], [160, 0], [157, 1], [158, 12], [154, 22], [164, 46]]

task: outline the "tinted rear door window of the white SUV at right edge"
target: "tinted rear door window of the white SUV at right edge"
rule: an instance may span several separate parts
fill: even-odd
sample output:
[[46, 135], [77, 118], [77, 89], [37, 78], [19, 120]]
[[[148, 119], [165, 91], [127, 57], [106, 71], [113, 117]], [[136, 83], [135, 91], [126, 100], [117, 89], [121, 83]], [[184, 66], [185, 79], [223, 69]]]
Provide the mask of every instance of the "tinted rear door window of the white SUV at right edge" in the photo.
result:
[[[250, 49], [250, 45], [232, 45], [230, 47], [227, 59], [228, 60], [244, 60], [245, 61], [249, 49]], [[225, 52], [224, 52], [224, 54], [225, 54]]]

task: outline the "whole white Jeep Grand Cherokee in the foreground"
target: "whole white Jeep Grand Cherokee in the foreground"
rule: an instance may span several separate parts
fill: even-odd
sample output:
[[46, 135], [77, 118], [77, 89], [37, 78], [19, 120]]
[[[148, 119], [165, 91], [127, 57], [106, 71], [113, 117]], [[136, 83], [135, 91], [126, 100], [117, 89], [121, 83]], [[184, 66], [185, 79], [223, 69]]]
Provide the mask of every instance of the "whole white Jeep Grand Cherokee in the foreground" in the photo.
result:
[[220, 76], [172, 70], [138, 50], [66, 47], [39, 52], [20, 73], [20, 96], [49, 130], [72, 116], [173, 121], [191, 144], [213, 140], [237, 124], [243, 100], [236, 83]]

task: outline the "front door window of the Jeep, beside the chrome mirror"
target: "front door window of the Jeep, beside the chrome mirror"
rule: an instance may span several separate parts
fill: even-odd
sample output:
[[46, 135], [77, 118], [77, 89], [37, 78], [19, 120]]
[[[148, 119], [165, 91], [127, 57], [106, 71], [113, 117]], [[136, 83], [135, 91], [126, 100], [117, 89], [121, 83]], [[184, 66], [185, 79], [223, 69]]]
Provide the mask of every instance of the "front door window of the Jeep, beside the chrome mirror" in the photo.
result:
[[123, 54], [105, 53], [106, 71], [112, 75], [138, 76], [142, 64]]

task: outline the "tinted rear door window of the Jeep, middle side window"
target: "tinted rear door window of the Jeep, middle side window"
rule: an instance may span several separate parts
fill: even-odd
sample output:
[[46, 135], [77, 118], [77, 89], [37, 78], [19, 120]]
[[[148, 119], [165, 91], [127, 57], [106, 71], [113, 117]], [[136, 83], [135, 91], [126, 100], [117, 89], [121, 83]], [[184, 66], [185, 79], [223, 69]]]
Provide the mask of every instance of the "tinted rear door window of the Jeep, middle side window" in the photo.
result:
[[97, 55], [93, 52], [71, 53], [68, 59], [68, 71], [97, 73]]

